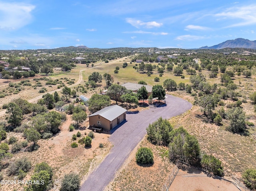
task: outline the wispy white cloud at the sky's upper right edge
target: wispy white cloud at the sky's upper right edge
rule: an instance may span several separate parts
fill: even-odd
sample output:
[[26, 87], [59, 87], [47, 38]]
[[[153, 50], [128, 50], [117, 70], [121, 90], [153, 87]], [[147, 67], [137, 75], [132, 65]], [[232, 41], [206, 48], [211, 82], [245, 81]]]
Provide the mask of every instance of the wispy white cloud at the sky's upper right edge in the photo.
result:
[[218, 17], [219, 20], [231, 19], [236, 22], [236, 24], [229, 25], [225, 28], [248, 26], [248, 25], [256, 24], [255, 10], [256, 10], [256, 5], [254, 4], [248, 5], [248, 6], [236, 6], [236, 7], [228, 8], [221, 13], [214, 14], [214, 16]]

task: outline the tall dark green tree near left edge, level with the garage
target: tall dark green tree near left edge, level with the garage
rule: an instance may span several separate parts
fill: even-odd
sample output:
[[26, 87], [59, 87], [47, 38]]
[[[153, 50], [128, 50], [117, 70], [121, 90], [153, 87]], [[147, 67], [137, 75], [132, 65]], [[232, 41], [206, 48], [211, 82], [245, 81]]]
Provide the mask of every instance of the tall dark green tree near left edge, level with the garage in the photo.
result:
[[8, 104], [4, 104], [3, 108], [6, 109], [7, 114], [10, 114], [8, 123], [12, 124], [14, 127], [20, 125], [23, 118], [20, 107], [16, 103], [10, 102]]

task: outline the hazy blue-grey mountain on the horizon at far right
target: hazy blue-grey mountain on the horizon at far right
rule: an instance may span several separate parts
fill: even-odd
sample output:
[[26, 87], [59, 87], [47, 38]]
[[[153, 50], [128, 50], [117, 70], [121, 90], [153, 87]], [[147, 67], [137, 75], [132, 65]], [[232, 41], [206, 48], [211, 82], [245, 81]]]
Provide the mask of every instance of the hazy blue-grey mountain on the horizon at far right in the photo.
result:
[[199, 49], [223, 49], [223, 48], [250, 48], [256, 49], [256, 40], [250, 41], [248, 39], [237, 38], [234, 40], [227, 40], [214, 46], [204, 46]]

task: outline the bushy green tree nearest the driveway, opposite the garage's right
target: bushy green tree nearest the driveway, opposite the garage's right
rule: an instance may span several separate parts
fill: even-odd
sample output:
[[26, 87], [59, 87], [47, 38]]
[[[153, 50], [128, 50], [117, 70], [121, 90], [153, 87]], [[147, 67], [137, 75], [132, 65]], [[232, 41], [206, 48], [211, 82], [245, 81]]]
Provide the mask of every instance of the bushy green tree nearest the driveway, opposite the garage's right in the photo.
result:
[[173, 128], [170, 122], [162, 117], [149, 124], [146, 128], [148, 140], [152, 144], [167, 146], [170, 143], [170, 134]]

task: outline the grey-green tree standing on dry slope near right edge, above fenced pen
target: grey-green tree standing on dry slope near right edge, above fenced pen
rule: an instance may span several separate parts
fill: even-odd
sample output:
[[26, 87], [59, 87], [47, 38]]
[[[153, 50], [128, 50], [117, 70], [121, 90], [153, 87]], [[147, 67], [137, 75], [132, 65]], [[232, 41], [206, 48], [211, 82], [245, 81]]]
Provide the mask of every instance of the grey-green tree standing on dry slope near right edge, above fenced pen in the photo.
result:
[[240, 107], [231, 108], [227, 112], [228, 130], [233, 133], [246, 133], [245, 112]]

